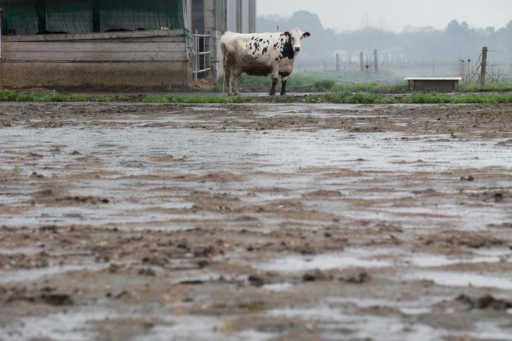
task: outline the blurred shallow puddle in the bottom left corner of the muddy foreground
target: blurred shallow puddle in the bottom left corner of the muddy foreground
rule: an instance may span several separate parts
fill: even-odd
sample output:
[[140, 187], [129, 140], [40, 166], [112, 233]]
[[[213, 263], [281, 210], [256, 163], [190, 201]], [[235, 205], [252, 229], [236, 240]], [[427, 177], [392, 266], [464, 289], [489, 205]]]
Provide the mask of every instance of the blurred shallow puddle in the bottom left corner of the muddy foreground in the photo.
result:
[[[142, 313], [138, 309], [120, 313], [109, 308], [77, 308], [45, 317], [26, 317], [16, 325], [0, 329], [0, 340], [102, 340], [111, 337], [109, 331], [116, 331], [122, 327], [122, 324], [116, 322], [129, 320], [134, 320], [131, 322], [134, 326], [142, 326], [145, 320], [154, 321], [154, 325], [145, 329], [143, 336], [129, 335], [129, 340], [264, 341], [276, 335], [255, 330], [223, 332], [223, 326], [228, 323], [229, 317], [173, 315], [154, 306], [147, 313]], [[101, 333], [102, 331], [106, 334]], [[116, 334], [124, 335], [126, 332]]]

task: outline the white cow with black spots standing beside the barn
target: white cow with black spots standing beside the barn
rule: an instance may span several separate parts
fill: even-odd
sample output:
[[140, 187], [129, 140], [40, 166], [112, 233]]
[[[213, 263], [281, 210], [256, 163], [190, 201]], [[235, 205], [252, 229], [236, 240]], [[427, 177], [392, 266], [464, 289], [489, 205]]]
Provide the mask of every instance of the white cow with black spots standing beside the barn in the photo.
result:
[[221, 37], [222, 61], [228, 80], [228, 94], [239, 94], [238, 77], [248, 75], [272, 77], [270, 95], [275, 95], [277, 76], [281, 76], [281, 95], [286, 94], [286, 80], [293, 71], [295, 57], [302, 48], [302, 39], [309, 32], [295, 28], [284, 33], [241, 34], [226, 32]]

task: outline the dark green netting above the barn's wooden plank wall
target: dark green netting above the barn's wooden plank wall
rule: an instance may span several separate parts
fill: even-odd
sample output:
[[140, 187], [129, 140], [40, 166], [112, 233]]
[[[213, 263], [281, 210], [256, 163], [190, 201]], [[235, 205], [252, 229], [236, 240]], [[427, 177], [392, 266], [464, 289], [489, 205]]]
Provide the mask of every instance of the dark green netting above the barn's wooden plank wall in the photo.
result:
[[0, 0], [3, 35], [183, 28], [181, 0]]

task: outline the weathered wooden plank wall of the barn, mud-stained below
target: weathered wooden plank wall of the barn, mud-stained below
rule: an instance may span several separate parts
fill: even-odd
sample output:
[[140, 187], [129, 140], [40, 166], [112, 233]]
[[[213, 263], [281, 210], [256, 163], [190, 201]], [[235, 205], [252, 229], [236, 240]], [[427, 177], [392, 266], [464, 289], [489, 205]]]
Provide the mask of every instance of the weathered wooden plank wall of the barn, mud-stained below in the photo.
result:
[[3, 37], [1, 86], [95, 89], [188, 86], [183, 30]]

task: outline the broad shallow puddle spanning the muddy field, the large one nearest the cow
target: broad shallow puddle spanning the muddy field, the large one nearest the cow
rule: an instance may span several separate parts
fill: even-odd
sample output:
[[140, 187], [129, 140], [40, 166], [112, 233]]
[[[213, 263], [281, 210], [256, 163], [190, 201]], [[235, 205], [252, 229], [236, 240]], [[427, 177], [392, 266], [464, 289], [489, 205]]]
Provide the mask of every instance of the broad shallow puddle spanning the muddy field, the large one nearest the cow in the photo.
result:
[[[173, 129], [172, 139], [167, 129], [154, 128], [147, 133], [144, 128], [94, 129], [55, 128], [32, 129], [9, 128], [0, 138], [11, 149], [21, 149], [27, 145], [42, 147], [42, 140], [59, 139], [69, 151], [80, 150], [82, 154], [91, 154], [98, 150], [98, 140], [113, 144], [109, 153], [109, 169], [127, 174], [146, 172], [145, 156], [151, 154], [169, 154], [188, 156], [190, 168], [199, 167], [203, 172], [226, 170], [225, 165], [237, 167], [246, 163], [272, 163], [279, 167], [263, 167], [266, 170], [284, 171], [298, 167], [318, 167], [344, 165], [351, 169], [382, 169], [390, 171], [417, 170], [410, 160], [424, 160], [425, 172], [443, 171], [454, 167], [466, 167], [470, 160], [472, 167], [493, 167], [512, 165], [506, 149], [496, 149], [500, 140], [423, 142], [401, 140], [399, 133], [372, 133], [355, 140], [347, 139], [351, 134], [339, 130], [307, 131], [233, 131], [223, 132], [197, 131], [195, 129]], [[13, 136], [19, 138], [12, 139]], [[432, 138], [432, 136], [430, 136]], [[131, 143], [144, 140], [145, 143]], [[19, 141], [19, 142], [13, 142]], [[77, 145], [80, 142], [80, 145]], [[100, 149], [104, 150], [104, 149]], [[464, 153], [460, 153], [464, 150]], [[455, 152], [457, 151], [457, 152]], [[57, 165], [71, 162], [74, 158], [56, 154], [39, 160], [39, 166]], [[248, 159], [248, 155], [251, 157]], [[393, 157], [400, 155], [400, 157]], [[365, 163], [358, 160], [364, 158]], [[404, 161], [404, 163], [399, 163]], [[179, 167], [179, 165], [176, 165]]]

